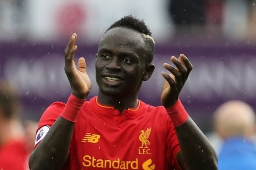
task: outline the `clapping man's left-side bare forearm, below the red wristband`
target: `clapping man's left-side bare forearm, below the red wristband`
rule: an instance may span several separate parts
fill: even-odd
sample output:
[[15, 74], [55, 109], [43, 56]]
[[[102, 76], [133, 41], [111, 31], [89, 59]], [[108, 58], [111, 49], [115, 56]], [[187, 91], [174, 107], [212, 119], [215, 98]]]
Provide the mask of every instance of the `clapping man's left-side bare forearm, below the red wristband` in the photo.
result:
[[60, 170], [68, 157], [75, 122], [59, 117], [29, 159], [30, 170]]

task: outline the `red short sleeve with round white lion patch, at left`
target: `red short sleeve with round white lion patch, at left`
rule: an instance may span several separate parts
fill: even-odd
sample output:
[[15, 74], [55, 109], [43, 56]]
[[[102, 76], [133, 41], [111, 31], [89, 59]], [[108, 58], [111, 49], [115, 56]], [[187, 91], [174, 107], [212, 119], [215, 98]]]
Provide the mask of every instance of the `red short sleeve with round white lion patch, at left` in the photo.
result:
[[63, 111], [64, 107], [65, 103], [54, 102], [42, 114], [38, 123], [38, 128], [35, 136], [35, 147], [37, 147], [39, 142], [44, 138], [46, 133], [49, 131], [50, 127], [60, 116], [60, 113]]

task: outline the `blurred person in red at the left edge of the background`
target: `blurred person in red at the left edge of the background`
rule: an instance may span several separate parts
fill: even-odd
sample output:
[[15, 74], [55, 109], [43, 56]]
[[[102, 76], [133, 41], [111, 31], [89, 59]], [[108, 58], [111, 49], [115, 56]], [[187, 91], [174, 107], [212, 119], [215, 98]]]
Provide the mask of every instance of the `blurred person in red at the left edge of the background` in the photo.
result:
[[4, 80], [0, 81], [0, 170], [28, 170], [37, 123], [19, 117], [18, 94]]

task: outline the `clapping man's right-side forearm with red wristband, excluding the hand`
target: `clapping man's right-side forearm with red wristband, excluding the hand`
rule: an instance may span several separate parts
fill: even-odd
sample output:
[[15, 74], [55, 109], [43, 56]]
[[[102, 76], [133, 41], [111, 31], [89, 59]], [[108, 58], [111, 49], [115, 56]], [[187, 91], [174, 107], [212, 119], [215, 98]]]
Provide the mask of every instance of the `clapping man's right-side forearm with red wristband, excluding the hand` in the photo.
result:
[[[174, 125], [181, 152], [177, 160], [185, 170], [217, 169], [217, 156], [206, 136], [189, 117], [180, 100], [166, 108]], [[185, 165], [185, 166], [184, 166]]]

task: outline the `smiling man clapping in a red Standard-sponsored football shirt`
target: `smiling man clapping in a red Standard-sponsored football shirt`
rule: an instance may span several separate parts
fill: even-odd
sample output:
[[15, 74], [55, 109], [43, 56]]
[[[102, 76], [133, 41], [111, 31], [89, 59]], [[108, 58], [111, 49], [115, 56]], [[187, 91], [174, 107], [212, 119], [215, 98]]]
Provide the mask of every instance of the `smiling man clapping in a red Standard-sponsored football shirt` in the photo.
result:
[[98, 96], [86, 101], [91, 82], [83, 57], [75, 66], [76, 38], [73, 34], [65, 49], [72, 94], [43, 114], [31, 170], [217, 169], [214, 150], [178, 100], [192, 69], [187, 57], [171, 57], [177, 69], [163, 64], [175, 76], [162, 72], [164, 107], [138, 100], [142, 82], [154, 71], [154, 40], [142, 20], [125, 16], [99, 42]]

